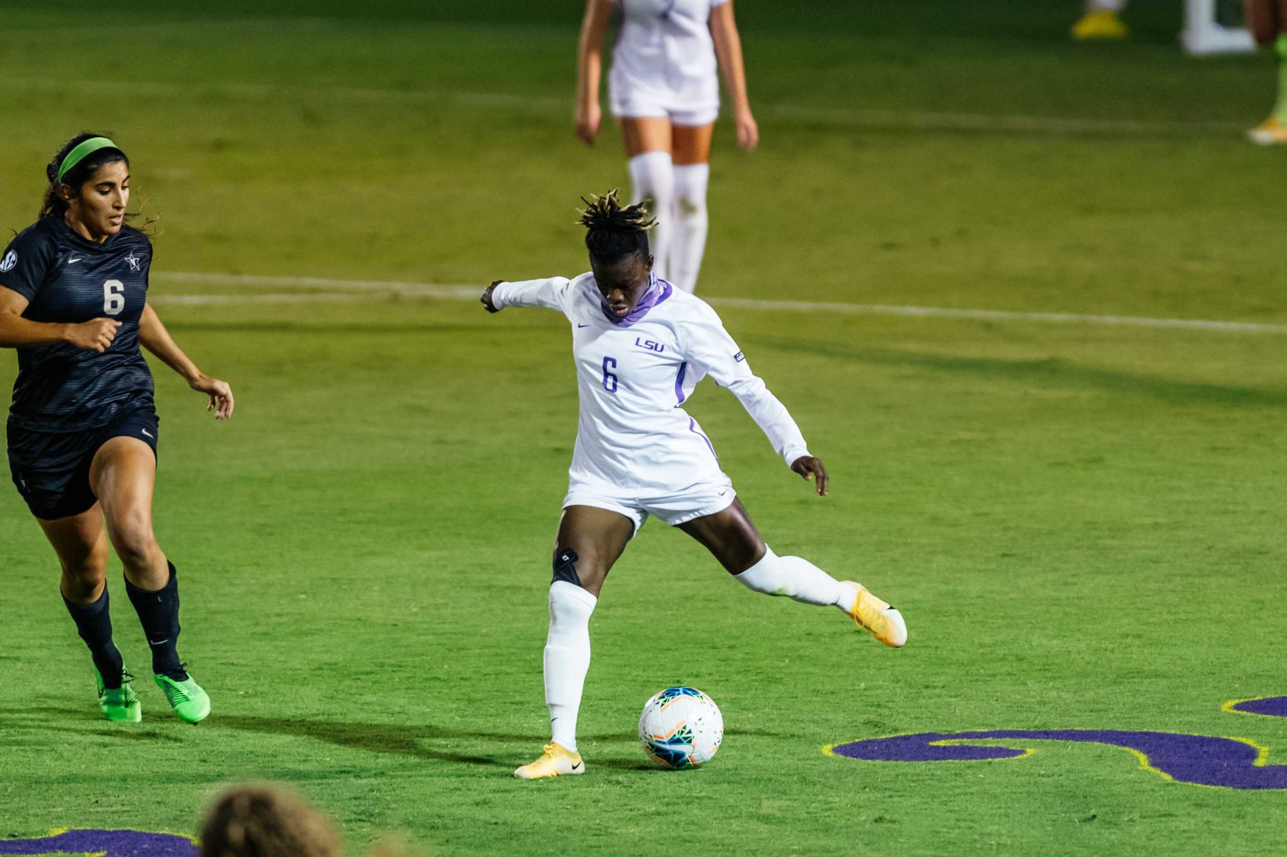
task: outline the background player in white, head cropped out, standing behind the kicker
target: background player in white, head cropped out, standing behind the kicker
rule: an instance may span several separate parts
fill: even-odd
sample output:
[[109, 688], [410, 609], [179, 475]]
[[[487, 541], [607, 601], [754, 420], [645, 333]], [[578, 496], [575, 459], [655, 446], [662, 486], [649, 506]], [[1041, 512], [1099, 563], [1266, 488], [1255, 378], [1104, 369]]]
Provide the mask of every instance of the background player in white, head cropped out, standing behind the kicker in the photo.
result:
[[707, 246], [710, 135], [719, 80], [732, 100], [737, 143], [748, 152], [759, 129], [746, 100], [741, 39], [731, 0], [589, 0], [577, 48], [577, 135], [598, 133], [604, 31], [620, 10], [607, 89], [629, 158], [632, 202], [653, 199], [656, 274], [686, 292], [698, 284]]

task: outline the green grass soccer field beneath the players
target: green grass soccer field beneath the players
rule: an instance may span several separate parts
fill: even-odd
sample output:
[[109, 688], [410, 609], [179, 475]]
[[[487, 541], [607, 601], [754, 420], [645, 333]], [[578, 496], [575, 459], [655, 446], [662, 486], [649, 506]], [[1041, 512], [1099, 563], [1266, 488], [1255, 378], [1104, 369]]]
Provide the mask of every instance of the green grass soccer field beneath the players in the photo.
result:
[[[54, 555], [0, 490], [0, 838], [193, 833], [224, 785], [270, 779], [355, 853], [386, 833], [425, 853], [1281, 842], [1287, 791], [1167, 781], [1118, 748], [822, 751], [1115, 728], [1246, 737], [1287, 762], [1287, 719], [1220, 710], [1287, 694], [1284, 153], [1241, 138], [1272, 100], [1268, 58], [1184, 58], [1179, 4], [1160, 0], [1133, 9], [1135, 40], [1093, 46], [1064, 40], [1072, 3], [1022, 19], [1000, 0], [811, 19], [740, 3], [763, 145], [717, 130], [701, 295], [1278, 327], [717, 302], [833, 490], [812, 497], [707, 383], [692, 413], [725, 470], [779, 553], [889, 597], [911, 640], [885, 650], [834, 611], [754, 596], [654, 521], [592, 623], [588, 775], [519, 782], [547, 737], [544, 593], [577, 425], [564, 320], [254, 278], [579, 273], [573, 208], [627, 183], [620, 144], [610, 126], [593, 151], [571, 134], [577, 9], [293, 18], [277, 1], [0, 4], [0, 226], [35, 217], [63, 139], [111, 130], [161, 216], [157, 309], [238, 398], [215, 425], [157, 371], [157, 534], [183, 571], [180, 651], [215, 706], [197, 728], [147, 682], [142, 726], [97, 718]], [[113, 557], [117, 641], [145, 674], [118, 580]], [[647, 767], [634, 737], [669, 683], [725, 713], [696, 772]]]

